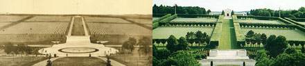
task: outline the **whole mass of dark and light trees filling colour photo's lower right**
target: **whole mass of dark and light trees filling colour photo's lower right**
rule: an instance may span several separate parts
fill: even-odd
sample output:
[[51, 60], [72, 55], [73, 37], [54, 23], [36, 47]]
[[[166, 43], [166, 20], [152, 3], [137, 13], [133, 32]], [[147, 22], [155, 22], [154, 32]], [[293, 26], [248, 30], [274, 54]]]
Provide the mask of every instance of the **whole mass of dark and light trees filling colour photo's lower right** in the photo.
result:
[[[256, 66], [302, 66], [305, 65], [304, 43], [302, 51], [288, 47], [286, 37], [279, 35], [270, 35], [266, 37], [265, 33], [259, 34], [248, 31], [246, 36], [247, 44], [262, 43], [264, 50], [254, 54]], [[244, 46], [244, 45], [243, 45]], [[252, 54], [250, 54], [252, 55]]]

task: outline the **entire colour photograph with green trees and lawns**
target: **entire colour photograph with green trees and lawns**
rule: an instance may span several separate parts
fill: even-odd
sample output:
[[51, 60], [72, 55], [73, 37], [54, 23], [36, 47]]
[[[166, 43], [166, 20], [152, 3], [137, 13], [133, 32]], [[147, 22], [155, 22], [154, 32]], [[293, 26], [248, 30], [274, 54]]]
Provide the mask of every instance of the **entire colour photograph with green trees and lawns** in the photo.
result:
[[304, 0], [153, 0], [153, 66], [305, 66]]

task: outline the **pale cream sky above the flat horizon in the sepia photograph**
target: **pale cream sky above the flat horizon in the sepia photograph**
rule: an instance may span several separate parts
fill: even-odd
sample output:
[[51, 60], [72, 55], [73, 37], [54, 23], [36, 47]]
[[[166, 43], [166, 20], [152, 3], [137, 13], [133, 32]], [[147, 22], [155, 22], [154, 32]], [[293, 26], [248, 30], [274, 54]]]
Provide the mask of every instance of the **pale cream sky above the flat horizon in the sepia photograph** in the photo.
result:
[[152, 15], [152, 0], [0, 0], [0, 13]]

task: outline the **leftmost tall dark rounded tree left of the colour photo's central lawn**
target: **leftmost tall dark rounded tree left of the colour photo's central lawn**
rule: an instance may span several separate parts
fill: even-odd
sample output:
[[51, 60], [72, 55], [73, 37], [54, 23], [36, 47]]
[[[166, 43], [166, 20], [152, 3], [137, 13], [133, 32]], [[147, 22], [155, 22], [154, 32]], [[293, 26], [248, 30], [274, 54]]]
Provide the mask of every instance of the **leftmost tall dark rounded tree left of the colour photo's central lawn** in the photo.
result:
[[177, 46], [178, 42], [174, 35], [170, 35], [167, 39], [167, 45], [166, 49], [168, 49], [171, 52], [177, 51], [175, 46]]

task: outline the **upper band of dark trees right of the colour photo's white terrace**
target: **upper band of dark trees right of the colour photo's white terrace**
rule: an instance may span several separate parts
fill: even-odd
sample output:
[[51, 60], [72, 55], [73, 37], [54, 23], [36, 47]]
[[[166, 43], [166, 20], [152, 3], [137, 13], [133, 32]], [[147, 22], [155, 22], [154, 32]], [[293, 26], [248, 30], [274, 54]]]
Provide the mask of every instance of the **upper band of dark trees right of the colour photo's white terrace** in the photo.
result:
[[[267, 37], [265, 33], [254, 33], [254, 31], [248, 31], [245, 35], [245, 40], [247, 44], [250, 44], [250, 47], [252, 47], [252, 44], [263, 44], [263, 47], [265, 50], [270, 51], [270, 56], [275, 57], [279, 55], [279, 53], [282, 53], [284, 49], [288, 47], [288, 45], [293, 46], [293, 43], [288, 43], [286, 40], [286, 37], [279, 35], [270, 35]], [[299, 46], [301, 44], [302, 46], [302, 53], [305, 53], [304, 49], [304, 42], [295, 43], [296, 46]], [[242, 44], [243, 47], [245, 44]]]

